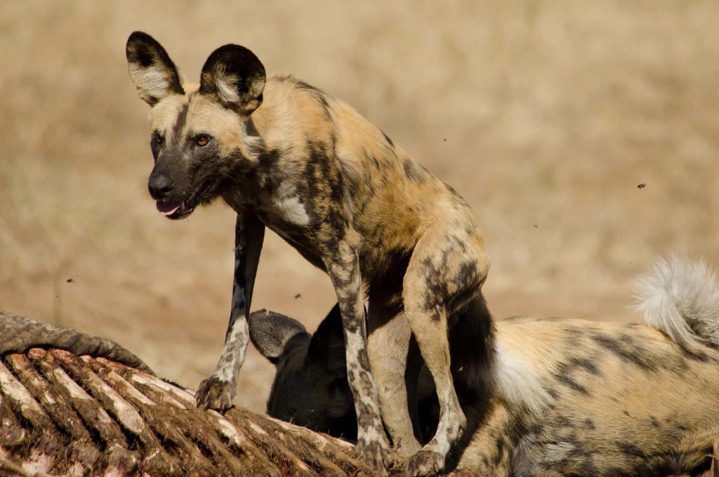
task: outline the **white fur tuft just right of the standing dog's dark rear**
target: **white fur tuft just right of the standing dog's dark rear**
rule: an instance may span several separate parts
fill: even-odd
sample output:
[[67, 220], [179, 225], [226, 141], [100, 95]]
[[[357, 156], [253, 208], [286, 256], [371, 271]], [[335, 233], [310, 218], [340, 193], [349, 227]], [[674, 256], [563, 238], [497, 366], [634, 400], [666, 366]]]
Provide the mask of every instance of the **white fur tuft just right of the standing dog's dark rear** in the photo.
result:
[[500, 394], [512, 404], [521, 404], [532, 412], [539, 412], [551, 399], [542, 386], [536, 369], [521, 356], [510, 353], [496, 343], [494, 378]]

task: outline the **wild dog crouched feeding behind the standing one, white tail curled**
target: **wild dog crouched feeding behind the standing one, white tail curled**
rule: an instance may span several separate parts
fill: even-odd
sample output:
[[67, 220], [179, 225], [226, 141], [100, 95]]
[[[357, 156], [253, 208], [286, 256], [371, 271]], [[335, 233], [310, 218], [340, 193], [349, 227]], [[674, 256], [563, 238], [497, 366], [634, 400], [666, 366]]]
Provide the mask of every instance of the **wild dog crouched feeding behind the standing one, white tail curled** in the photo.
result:
[[[459, 390], [470, 427], [448, 468], [482, 476], [666, 476], [705, 469], [719, 438], [715, 278], [703, 265], [662, 261], [641, 297], [646, 325], [498, 320], [490, 399], [467, 400]], [[252, 313], [249, 331], [277, 366], [267, 412], [352, 439], [336, 308], [314, 335], [264, 310]], [[454, 374], [461, 375], [466, 370], [454, 358]], [[429, 427], [431, 436], [436, 399], [433, 404], [426, 373], [421, 387], [419, 427]]]

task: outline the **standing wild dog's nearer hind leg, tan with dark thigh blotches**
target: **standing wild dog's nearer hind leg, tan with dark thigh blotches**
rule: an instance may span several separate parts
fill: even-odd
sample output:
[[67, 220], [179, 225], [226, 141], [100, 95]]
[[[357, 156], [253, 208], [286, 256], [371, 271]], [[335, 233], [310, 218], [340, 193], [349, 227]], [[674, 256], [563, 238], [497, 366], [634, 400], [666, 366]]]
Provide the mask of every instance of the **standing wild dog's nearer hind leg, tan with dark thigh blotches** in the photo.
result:
[[408, 462], [412, 475], [441, 471], [467, 419], [459, 407], [450, 371], [447, 316], [480, 294], [489, 260], [475, 229], [435, 226], [418, 241], [403, 281], [405, 314], [439, 400], [439, 425]]

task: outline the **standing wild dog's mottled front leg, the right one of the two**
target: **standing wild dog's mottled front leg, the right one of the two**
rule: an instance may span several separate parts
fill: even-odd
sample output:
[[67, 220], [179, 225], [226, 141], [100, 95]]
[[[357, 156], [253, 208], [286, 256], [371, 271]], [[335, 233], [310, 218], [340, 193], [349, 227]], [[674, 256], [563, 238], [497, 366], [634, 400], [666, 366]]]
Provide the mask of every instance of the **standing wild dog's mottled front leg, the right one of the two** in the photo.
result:
[[357, 456], [375, 468], [387, 468], [391, 462], [390, 445], [382, 425], [377, 385], [367, 357], [365, 304], [357, 252], [342, 241], [331, 258], [325, 260], [325, 266], [342, 313], [347, 381], [357, 412]]

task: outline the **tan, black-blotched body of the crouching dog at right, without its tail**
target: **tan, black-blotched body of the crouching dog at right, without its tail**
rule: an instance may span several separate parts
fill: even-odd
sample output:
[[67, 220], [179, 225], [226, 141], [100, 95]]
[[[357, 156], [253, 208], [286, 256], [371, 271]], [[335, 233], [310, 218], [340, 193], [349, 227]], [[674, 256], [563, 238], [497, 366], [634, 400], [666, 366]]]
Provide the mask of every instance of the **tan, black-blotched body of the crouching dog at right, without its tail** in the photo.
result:
[[707, 465], [719, 438], [714, 346], [681, 346], [647, 325], [532, 318], [501, 320], [498, 342], [549, 394], [540, 415], [521, 420], [521, 435], [505, 429], [519, 475], [661, 476]]

